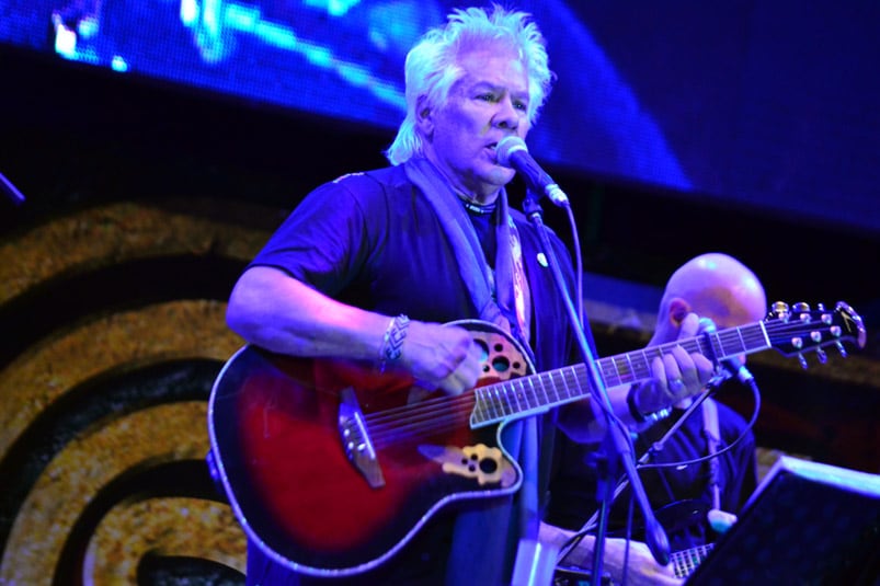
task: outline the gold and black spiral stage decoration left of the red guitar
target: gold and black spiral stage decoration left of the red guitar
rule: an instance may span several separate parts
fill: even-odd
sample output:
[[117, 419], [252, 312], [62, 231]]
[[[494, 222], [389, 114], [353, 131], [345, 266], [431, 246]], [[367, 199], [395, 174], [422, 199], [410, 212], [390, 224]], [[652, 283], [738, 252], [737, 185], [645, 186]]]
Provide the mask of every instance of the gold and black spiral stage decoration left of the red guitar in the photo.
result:
[[207, 400], [268, 232], [201, 207], [55, 211], [0, 241], [0, 584], [243, 583]]

